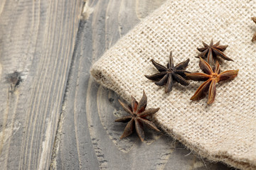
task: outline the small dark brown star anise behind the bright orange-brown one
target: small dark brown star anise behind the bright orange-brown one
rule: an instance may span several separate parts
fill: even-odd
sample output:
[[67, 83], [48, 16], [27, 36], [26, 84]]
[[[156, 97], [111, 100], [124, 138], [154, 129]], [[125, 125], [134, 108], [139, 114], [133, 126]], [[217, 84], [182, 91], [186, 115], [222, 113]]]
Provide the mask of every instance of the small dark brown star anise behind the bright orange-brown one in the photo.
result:
[[215, 63], [217, 56], [223, 58], [224, 60], [233, 61], [223, 53], [227, 47], [228, 45], [220, 45], [220, 41], [214, 45], [213, 40], [210, 41], [210, 45], [203, 42], [203, 47], [197, 48], [197, 50], [201, 52], [197, 57], [207, 58], [207, 62], [210, 64], [210, 66]]

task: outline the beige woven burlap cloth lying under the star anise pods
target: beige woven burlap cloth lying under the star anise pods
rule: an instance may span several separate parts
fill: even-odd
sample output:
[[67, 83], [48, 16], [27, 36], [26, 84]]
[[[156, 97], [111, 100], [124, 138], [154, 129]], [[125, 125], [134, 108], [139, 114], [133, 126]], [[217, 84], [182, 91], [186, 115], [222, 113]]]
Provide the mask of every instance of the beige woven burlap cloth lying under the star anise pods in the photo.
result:
[[[127, 101], [131, 95], [139, 100], [144, 89], [148, 108], [161, 108], [155, 114], [156, 123], [201, 157], [256, 169], [256, 42], [251, 42], [256, 25], [252, 16], [256, 16], [255, 0], [167, 1], [105, 52], [91, 74]], [[206, 104], [207, 97], [189, 100], [201, 82], [174, 83], [173, 91], [165, 94], [163, 87], [144, 77], [157, 72], [150, 60], [166, 65], [170, 51], [175, 64], [189, 58], [187, 70], [201, 72], [194, 57], [196, 47], [212, 38], [229, 45], [224, 53], [235, 61], [224, 61], [221, 70], [240, 69], [233, 81], [218, 84], [212, 105]]]

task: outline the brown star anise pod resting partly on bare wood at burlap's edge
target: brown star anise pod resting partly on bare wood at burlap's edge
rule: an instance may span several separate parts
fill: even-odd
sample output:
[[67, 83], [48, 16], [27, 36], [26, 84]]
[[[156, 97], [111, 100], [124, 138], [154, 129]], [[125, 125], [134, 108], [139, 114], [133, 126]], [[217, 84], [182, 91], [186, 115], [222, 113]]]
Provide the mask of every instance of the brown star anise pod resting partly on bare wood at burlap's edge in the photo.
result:
[[[118, 100], [119, 101], [119, 100]], [[127, 105], [125, 103], [122, 103], [122, 101], [119, 101], [122, 108], [124, 108], [124, 111], [127, 111], [130, 115], [124, 116], [123, 118], [119, 118], [117, 120], [114, 120], [115, 122], [122, 122], [127, 123], [127, 126], [124, 128], [124, 132], [120, 139], [127, 137], [132, 134], [134, 131], [134, 126], [137, 132], [137, 135], [139, 136], [140, 140], [142, 142], [144, 141], [144, 125], [148, 125], [149, 128], [152, 128], [158, 132], [160, 130], [156, 128], [156, 125], [151, 122], [150, 120], [146, 119], [146, 116], [153, 115], [157, 111], [159, 111], [159, 108], [149, 108], [148, 110], [145, 110], [147, 98], [145, 91], [143, 91], [142, 99], [139, 101], [139, 103], [136, 101], [136, 99], [132, 96], [132, 103], [131, 105]]]

